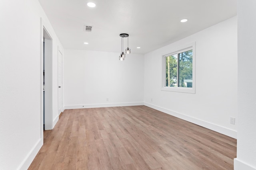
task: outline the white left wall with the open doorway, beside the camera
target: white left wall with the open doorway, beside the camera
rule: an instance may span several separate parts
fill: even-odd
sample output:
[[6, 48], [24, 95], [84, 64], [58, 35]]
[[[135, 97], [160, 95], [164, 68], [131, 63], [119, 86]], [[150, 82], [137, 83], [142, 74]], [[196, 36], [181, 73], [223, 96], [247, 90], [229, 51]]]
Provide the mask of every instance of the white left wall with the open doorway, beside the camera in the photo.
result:
[[54, 118], [58, 114], [57, 47], [61, 47], [60, 42], [37, 0], [0, 1], [1, 170], [27, 169], [43, 143], [41, 17], [53, 38]]

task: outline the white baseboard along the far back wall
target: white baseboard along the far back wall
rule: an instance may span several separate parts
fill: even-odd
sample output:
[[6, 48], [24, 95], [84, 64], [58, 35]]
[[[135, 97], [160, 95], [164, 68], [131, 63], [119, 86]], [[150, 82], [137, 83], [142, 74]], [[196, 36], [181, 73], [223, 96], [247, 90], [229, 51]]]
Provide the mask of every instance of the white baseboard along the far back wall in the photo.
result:
[[84, 109], [84, 108], [98, 108], [98, 107], [120, 107], [120, 106], [141, 106], [141, 105], [144, 105], [144, 102], [68, 105], [68, 106], [64, 106], [64, 109]]

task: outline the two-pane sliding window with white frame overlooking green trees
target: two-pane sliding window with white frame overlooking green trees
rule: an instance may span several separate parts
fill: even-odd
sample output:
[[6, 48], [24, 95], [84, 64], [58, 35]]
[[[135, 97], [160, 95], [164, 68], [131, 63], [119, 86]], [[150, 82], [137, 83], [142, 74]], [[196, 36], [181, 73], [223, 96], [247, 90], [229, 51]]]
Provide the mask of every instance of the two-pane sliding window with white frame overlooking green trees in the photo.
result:
[[162, 90], [195, 93], [195, 43], [163, 56]]

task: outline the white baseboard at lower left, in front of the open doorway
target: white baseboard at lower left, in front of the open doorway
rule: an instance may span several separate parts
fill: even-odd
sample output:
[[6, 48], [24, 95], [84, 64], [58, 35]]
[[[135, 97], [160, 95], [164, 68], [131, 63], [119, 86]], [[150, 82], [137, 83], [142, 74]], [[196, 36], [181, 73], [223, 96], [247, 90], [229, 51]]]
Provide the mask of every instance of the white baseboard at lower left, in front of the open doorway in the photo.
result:
[[26, 158], [22, 161], [20, 166], [17, 168], [18, 170], [27, 170], [34, 158], [36, 157], [36, 154], [39, 152], [41, 147], [43, 146], [44, 139], [41, 138], [39, 141], [36, 143], [36, 145], [30, 150]]

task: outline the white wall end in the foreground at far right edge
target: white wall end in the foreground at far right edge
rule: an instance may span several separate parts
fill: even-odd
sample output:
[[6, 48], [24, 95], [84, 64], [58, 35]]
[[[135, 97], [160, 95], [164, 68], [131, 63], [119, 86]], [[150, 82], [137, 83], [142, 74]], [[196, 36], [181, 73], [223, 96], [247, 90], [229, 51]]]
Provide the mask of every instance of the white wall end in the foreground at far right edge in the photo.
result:
[[235, 170], [256, 170], [255, 9], [255, 0], [238, 0], [238, 131]]

